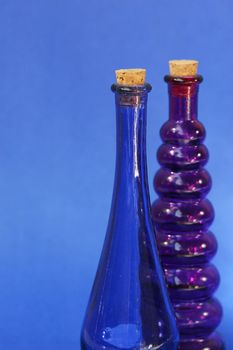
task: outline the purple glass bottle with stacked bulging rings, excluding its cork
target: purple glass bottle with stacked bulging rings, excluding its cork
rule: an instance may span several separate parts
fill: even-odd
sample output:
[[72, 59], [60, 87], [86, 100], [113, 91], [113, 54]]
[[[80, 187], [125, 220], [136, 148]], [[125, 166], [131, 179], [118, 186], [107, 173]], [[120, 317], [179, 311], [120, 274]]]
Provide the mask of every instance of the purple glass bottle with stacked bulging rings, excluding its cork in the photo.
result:
[[[172, 61], [171, 61], [172, 62]], [[182, 62], [182, 61], [176, 61]], [[180, 331], [180, 349], [223, 349], [214, 332], [222, 308], [213, 293], [219, 273], [210, 260], [217, 242], [209, 227], [214, 209], [206, 195], [211, 177], [204, 168], [205, 128], [197, 119], [197, 75], [167, 75], [169, 120], [161, 128], [161, 168], [154, 177], [159, 195], [152, 206], [158, 248]]]

